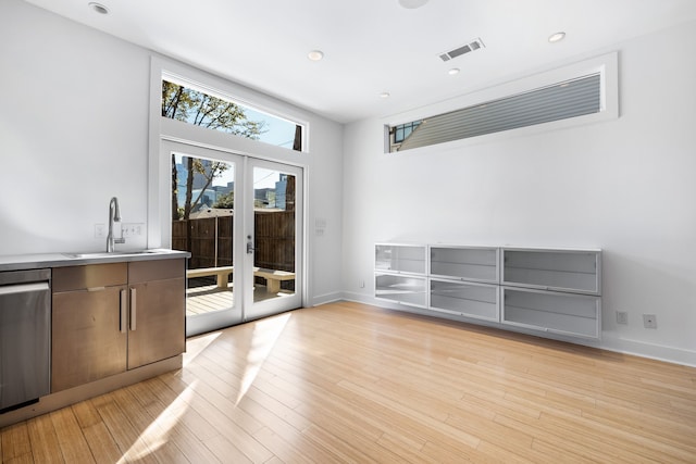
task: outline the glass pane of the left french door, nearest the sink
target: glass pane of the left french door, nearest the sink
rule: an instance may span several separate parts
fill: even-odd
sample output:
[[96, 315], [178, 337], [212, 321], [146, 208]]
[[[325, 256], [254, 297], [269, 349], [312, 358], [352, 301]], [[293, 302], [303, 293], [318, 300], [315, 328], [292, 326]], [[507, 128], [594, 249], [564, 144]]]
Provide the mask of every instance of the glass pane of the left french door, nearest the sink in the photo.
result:
[[172, 154], [172, 248], [191, 253], [187, 317], [231, 311], [235, 164]]

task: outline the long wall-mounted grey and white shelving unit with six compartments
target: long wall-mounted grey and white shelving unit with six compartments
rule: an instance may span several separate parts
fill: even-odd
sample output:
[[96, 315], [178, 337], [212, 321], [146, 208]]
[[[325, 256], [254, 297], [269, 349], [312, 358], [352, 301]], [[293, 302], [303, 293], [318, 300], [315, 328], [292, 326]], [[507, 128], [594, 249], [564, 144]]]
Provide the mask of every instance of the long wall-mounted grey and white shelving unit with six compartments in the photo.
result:
[[377, 243], [375, 298], [598, 339], [601, 250]]

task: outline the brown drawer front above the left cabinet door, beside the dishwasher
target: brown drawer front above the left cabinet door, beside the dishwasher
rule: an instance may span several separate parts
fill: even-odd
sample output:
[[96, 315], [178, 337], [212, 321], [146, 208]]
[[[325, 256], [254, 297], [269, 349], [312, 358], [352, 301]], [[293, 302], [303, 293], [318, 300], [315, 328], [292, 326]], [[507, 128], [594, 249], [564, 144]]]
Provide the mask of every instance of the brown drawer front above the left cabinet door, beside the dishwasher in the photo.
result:
[[128, 281], [128, 263], [87, 264], [53, 268], [53, 292], [113, 287]]

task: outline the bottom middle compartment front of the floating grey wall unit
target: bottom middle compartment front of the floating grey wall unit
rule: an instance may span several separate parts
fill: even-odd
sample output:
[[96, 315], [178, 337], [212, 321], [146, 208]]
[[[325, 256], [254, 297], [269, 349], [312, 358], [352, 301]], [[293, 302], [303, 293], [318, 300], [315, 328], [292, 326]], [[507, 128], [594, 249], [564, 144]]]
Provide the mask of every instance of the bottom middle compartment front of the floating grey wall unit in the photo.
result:
[[498, 286], [431, 279], [431, 309], [499, 321]]

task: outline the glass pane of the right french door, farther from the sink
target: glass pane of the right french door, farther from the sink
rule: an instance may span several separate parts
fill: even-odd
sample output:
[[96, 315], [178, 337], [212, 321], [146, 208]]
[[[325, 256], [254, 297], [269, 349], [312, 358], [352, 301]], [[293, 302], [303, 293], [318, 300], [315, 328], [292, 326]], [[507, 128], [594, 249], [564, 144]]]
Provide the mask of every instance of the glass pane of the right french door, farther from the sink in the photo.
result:
[[295, 294], [296, 181], [253, 168], [253, 301]]

